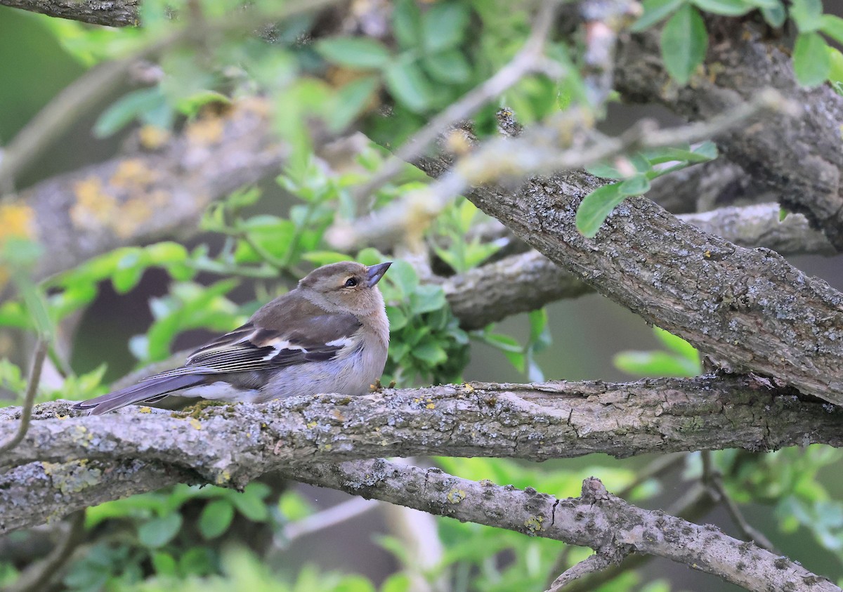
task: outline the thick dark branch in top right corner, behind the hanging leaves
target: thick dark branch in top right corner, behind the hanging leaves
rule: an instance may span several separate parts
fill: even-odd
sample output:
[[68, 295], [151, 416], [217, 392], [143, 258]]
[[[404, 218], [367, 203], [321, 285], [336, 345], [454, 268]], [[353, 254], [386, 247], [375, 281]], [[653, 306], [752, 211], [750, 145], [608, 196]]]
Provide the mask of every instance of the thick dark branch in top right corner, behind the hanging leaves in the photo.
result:
[[843, 186], [840, 121], [843, 98], [828, 85], [802, 89], [792, 60], [763, 40], [765, 26], [746, 19], [711, 19], [705, 73], [677, 88], [669, 81], [658, 49], [658, 33], [632, 35], [618, 51], [616, 89], [628, 100], [660, 102], [681, 116], [707, 120], [777, 89], [802, 108], [717, 138], [729, 159], [765, 183], [788, 210], [804, 213], [843, 248]]

